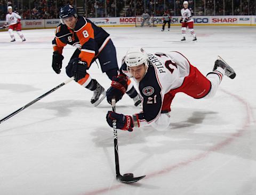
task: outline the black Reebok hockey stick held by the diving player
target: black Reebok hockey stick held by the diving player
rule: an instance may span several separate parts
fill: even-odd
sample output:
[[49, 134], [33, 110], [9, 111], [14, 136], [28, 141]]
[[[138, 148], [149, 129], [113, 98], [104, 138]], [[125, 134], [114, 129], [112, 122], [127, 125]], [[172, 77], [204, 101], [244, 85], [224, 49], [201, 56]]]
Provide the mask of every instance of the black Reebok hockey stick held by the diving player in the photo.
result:
[[[112, 111], [116, 112], [116, 100], [112, 98]], [[116, 164], [116, 179], [123, 183], [133, 183], [143, 179], [146, 175], [140, 177], [133, 177], [132, 173], [120, 174], [119, 171], [119, 156], [118, 156], [118, 141], [117, 141], [117, 129], [116, 120], [113, 120], [113, 133], [114, 133], [114, 150], [115, 150], [115, 164]]]

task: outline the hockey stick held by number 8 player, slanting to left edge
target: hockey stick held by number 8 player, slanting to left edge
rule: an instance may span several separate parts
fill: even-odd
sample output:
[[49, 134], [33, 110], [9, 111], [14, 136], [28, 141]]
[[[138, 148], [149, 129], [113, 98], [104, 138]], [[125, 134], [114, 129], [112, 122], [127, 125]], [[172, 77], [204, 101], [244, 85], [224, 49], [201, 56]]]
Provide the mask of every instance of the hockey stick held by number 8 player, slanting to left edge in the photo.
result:
[[23, 107], [17, 109], [17, 111], [13, 112], [12, 114], [9, 114], [8, 116], [5, 116], [4, 118], [2, 118], [2, 119], [0, 120], [0, 124], [1, 124], [2, 122], [6, 121], [8, 118], [11, 118], [11, 117], [14, 116], [15, 114], [19, 113], [20, 111], [23, 111], [23, 109], [25, 109], [25, 108], [31, 106], [32, 104], [36, 103], [38, 100], [40, 100], [40, 99], [44, 98], [45, 96], [51, 94], [53, 91], [55, 91], [55, 90], [61, 88], [63, 85], [69, 83], [70, 81], [73, 81], [74, 79], [75, 79], [74, 77], [71, 77], [71, 78], [68, 79], [67, 81], [62, 82], [61, 84], [59, 84], [58, 86], [54, 87], [54, 88], [51, 89], [50, 91], [46, 92], [46, 93], [43, 94], [42, 96], [40, 96], [40, 97], [34, 99], [33, 101], [30, 101], [30, 103], [28, 103], [28, 104], [26, 104], [25, 106], [23, 106]]

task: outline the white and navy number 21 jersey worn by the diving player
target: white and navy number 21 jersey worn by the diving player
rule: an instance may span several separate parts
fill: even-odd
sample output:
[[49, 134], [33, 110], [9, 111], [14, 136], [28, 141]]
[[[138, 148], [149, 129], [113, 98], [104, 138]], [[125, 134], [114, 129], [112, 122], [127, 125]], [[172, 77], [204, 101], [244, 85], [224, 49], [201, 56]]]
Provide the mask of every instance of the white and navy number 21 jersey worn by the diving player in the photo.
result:
[[[166, 129], [170, 124], [170, 115], [162, 111], [164, 95], [182, 85], [189, 75], [190, 64], [178, 52], [148, 54], [148, 62], [145, 77], [140, 82], [135, 80], [143, 106], [142, 113], [138, 114], [138, 122], [140, 126]], [[131, 77], [124, 60], [120, 72]]]

